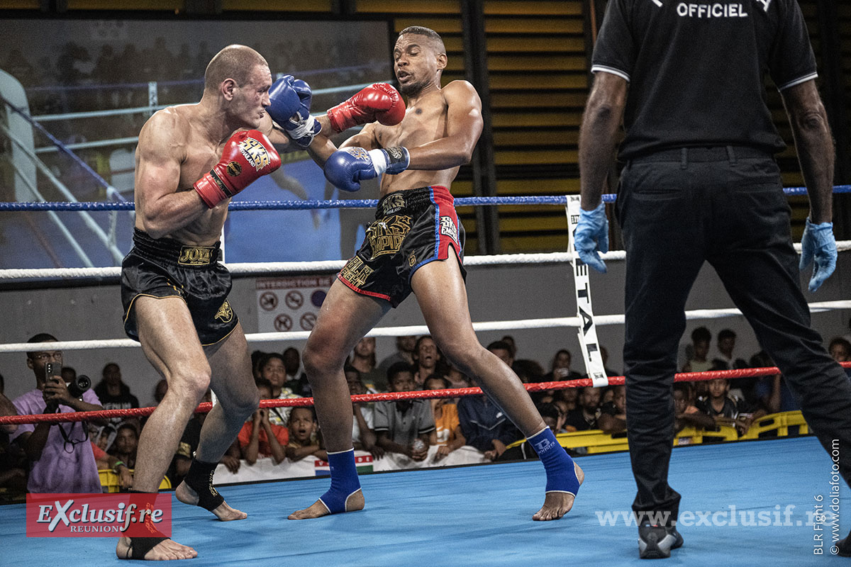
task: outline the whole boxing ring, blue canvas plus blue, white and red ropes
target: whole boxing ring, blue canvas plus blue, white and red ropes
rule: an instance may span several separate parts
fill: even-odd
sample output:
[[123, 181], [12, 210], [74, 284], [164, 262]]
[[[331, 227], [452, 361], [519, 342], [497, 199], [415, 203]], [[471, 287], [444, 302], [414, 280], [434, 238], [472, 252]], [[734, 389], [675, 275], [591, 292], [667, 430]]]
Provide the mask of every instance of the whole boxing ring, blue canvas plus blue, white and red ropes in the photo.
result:
[[[94, 173], [94, 172], [93, 172]], [[104, 182], [106, 183], [106, 182]], [[107, 184], [108, 185], [108, 184]], [[851, 192], [839, 186], [837, 192]], [[800, 195], [803, 188], [786, 190]], [[112, 202], [0, 203], [0, 211], [108, 212], [115, 223], [117, 212], [130, 212], [124, 201], [107, 187]], [[614, 201], [614, 196], [604, 196]], [[568, 206], [566, 196], [499, 197], [457, 199], [456, 206], [552, 205]], [[231, 210], [292, 210], [337, 207], [374, 207], [375, 201], [274, 201], [231, 203]], [[569, 218], [569, 213], [568, 213]], [[97, 232], [94, 227], [92, 230]], [[100, 241], [112, 258], [114, 230], [102, 231]], [[837, 243], [840, 251], [851, 241]], [[796, 245], [800, 250], [800, 245]], [[625, 252], [608, 252], [603, 259], [619, 261]], [[574, 263], [570, 252], [474, 256], [465, 260], [478, 266]], [[117, 267], [67, 269], [0, 269], [0, 281], [31, 282], [40, 279], [74, 278], [115, 280]], [[234, 275], [309, 274], [338, 270], [342, 261], [227, 264]], [[575, 266], [575, 264], [574, 264]], [[575, 270], [574, 275], [575, 275]], [[587, 275], [585, 274], [585, 277]], [[588, 305], [590, 307], [590, 303]], [[810, 303], [813, 312], [851, 309], [851, 301]], [[519, 329], [581, 328], [585, 315], [594, 326], [620, 325], [624, 315], [545, 317], [523, 320], [486, 320], [474, 323], [477, 332]], [[733, 317], [738, 309], [692, 309], [690, 320]], [[384, 326], [368, 333], [373, 337], [426, 334], [425, 326]], [[249, 343], [303, 340], [302, 332], [248, 333]], [[580, 344], [587, 347], [580, 336]], [[129, 339], [71, 340], [51, 343], [54, 349], [138, 348]], [[26, 352], [29, 343], [0, 344], [0, 353]], [[587, 350], [583, 358], [588, 358]], [[762, 369], [762, 375], [776, 369]], [[707, 379], [710, 375], [680, 376], [680, 380]], [[723, 373], [716, 373], [725, 376]], [[757, 373], [750, 375], [756, 376]], [[713, 375], [714, 376], [714, 375]], [[732, 375], [730, 375], [732, 376]], [[622, 377], [595, 376], [572, 383], [535, 384], [529, 389], [580, 387], [623, 383]], [[413, 393], [429, 398], [477, 394], [453, 390]], [[382, 398], [381, 396], [385, 396]], [[359, 400], [399, 399], [391, 394], [355, 397]], [[398, 396], [398, 394], [397, 394]], [[264, 400], [262, 405], [310, 405], [310, 399]], [[208, 410], [209, 406], [205, 406]], [[145, 415], [137, 411], [105, 411], [106, 417]], [[83, 419], [84, 415], [40, 417], [43, 421]], [[3, 420], [0, 419], [0, 422]], [[220, 523], [206, 511], [174, 502], [173, 537], [195, 547], [198, 558], [191, 564], [248, 565], [280, 560], [303, 565], [517, 565], [523, 563], [638, 563], [636, 528], [630, 523], [630, 504], [635, 495], [627, 453], [583, 456], [586, 481], [573, 510], [559, 521], [533, 522], [532, 514], [542, 502], [545, 477], [538, 462], [509, 462], [458, 468], [431, 468], [362, 476], [367, 507], [363, 512], [309, 521], [287, 521], [295, 509], [313, 502], [325, 490], [328, 479], [294, 479], [231, 485], [223, 490], [232, 506], [248, 513], [248, 520]], [[825, 521], [814, 518], [817, 496], [831, 496], [831, 456], [812, 437], [760, 440], [736, 444], [677, 448], [671, 459], [671, 486], [683, 493], [680, 531], [685, 546], [669, 559], [672, 564], [801, 565], [838, 564], [831, 556], [831, 532]], [[788, 487], [788, 488], [786, 488]], [[832, 496], [831, 496], [832, 497]], [[849, 493], [840, 482], [837, 492], [840, 513], [832, 517], [840, 526], [838, 538], [848, 532]], [[684, 513], [694, 519], [688, 525]], [[741, 516], [740, 513], [745, 513]], [[789, 514], [788, 516], [786, 514]], [[761, 524], [762, 518], [767, 524]], [[708, 518], [708, 519], [707, 519]], [[751, 521], [751, 518], [754, 518]], [[118, 561], [112, 552], [114, 539], [27, 539], [24, 506], [0, 507], [0, 564], [90, 565]], [[816, 536], [821, 536], [818, 539]], [[821, 544], [821, 545], [819, 545]], [[815, 550], [820, 548], [821, 553]]]

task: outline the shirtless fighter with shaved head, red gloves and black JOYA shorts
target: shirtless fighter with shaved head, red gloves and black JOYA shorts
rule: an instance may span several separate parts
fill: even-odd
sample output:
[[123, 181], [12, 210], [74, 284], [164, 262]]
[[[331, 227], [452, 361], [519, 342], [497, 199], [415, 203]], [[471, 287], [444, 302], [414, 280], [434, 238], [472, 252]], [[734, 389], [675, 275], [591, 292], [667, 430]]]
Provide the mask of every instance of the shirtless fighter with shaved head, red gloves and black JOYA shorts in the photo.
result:
[[[157, 492], [192, 411], [213, 388], [220, 403], [204, 421], [174, 496], [223, 521], [246, 514], [213, 488], [214, 469], [258, 400], [248, 343], [227, 299], [231, 276], [219, 263], [219, 237], [231, 197], [280, 167], [276, 146], [298, 149], [266, 112], [271, 84], [260, 54], [231, 45], [210, 61], [197, 105], [168, 107], [146, 122], [136, 149], [134, 247], [122, 264], [124, 329], [168, 381], [168, 394], [142, 430], [134, 491]], [[288, 118], [303, 109], [294, 88], [281, 89], [276, 104]], [[122, 537], [116, 554], [197, 555], [161, 535]]]

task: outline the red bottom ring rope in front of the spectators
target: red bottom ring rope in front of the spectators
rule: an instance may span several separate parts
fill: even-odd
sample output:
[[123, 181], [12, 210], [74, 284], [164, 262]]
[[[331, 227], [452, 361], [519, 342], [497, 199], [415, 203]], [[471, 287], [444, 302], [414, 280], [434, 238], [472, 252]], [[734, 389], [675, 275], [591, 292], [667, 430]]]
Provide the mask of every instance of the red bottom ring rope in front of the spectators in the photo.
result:
[[[851, 362], [841, 362], [843, 367], [851, 367]], [[705, 372], [678, 372], [674, 375], [675, 382], [698, 382], [701, 380], [714, 380], [715, 378], [744, 378], [757, 376], [774, 376], [780, 374], [776, 366], [767, 368], [742, 368], [740, 370], [712, 370]], [[608, 377], [609, 386], [622, 386], [624, 377]], [[591, 378], [580, 378], [578, 380], [567, 380], [563, 382], [540, 382], [523, 384], [529, 392], [541, 392], [544, 390], [560, 390], [567, 388], [585, 388], [593, 386]], [[353, 403], [375, 402], [375, 401], [399, 401], [399, 400], [431, 400], [432, 398], [459, 398], [461, 396], [482, 394], [481, 388], [448, 388], [443, 390], [423, 390], [417, 392], [388, 392], [386, 394], [358, 394], [351, 396]], [[260, 407], [306, 407], [313, 405], [313, 398], [288, 398], [285, 400], [260, 400]], [[43, 413], [26, 416], [0, 417], [0, 425], [6, 423], [64, 423], [82, 422], [92, 418], [111, 417], [146, 417], [150, 416], [154, 407], [137, 407], [129, 410], [99, 410], [99, 411], [71, 411], [67, 413]], [[196, 413], [207, 413], [213, 409], [213, 404], [204, 402], [198, 405]]]

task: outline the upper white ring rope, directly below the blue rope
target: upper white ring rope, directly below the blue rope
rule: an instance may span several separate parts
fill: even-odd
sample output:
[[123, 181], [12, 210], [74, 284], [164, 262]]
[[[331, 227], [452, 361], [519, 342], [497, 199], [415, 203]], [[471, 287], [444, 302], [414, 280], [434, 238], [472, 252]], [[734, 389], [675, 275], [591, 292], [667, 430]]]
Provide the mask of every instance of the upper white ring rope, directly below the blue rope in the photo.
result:
[[[851, 241], [837, 241], [839, 252], [851, 250]], [[801, 245], [795, 244], [796, 252]], [[464, 259], [464, 267], [511, 266], [530, 264], [563, 264], [570, 262], [573, 256], [569, 252], [542, 252], [537, 254], [494, 254], [490, 256], [470, 256]], [[626, 258], [624, 250], [615, 250], [603, 254], [604, 260], [620, 261]], [[339, 271], [346, 260], [323, 260], [318, 262], [243, 262], [225, 264], [231, 274], [309, 274], [311, 272]], [[117, 278], [121, 275], [120, 266], [103, 268], [32, 268], [0, 269], [2, 280], [41, 280], [68, 278]]]

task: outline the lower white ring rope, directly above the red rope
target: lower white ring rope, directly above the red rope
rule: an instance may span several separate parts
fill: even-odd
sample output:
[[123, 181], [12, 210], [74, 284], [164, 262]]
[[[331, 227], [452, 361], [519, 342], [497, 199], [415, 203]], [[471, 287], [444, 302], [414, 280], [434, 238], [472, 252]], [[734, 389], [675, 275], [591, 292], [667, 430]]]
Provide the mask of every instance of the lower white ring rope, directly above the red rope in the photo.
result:
[[[851, 309], [851, 300], [821, 301], [809, 303], [811, 313], [821, 313], [836, 309]], [[735, 317], [741, 315], [739, 309], [694, 309], [686, 311], [686, 319], [722, 319], [724, 317]], [[621, 325], [625, 319], [624, 315], [595, 315], [594, 322], [597, 325]], [[477, 332], [483, 331], [517, 331], [520, 329], [546, 329], [551, 327], [578, 327], [578, 317], [552, 317], [549, 319], [521, 319], [504, 321], [483, 321], [473, 323], [473, 329]], [[311, 334], [310, 331], [292, 332], [254, 332], [248, 333], [245, 338], [248, 343], [272, 343], [280, 341], [303, 341]], [[367, 333], [367, 337], [401, 337], [408, 335], [429, 334], [425, 325], [411, 326], [385, 326], [377, 327]], [[55, 350], [85, 350], [85, 349], [123, 349], [128, 347], [139, 347], [140, 344], [129, 338], [110, 338], [91, 341], [59, 341], [50, 343], [50, 348]], [[0, 353], [26, 353], [32, 350], [32, 343], [8, 343], [0, 344]]]

